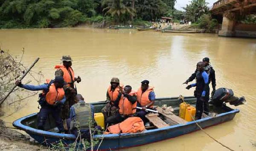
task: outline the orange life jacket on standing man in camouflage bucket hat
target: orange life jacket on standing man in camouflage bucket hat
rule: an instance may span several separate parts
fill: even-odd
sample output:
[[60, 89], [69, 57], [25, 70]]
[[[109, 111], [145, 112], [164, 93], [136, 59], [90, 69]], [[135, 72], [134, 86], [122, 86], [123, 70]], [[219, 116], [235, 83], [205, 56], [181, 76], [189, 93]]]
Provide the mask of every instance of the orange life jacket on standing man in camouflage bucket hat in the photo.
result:
[[64, 81], [67, 82], [67, 86], [69, 87], [74, 86], [75, 73], [71, 67], [68, 67], [68, 70], [67, 70], [67, 68], [64, 65], [56, 65], [55, 69], [61, 69], [61, 71], [63, 71], [64, 73], [63, 78], [64, 78]]

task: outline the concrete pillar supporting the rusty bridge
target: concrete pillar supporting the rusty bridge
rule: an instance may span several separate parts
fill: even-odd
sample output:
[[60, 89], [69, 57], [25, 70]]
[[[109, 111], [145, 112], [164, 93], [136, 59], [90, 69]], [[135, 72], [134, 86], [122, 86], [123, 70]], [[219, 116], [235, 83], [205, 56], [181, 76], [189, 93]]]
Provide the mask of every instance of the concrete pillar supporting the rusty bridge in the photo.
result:
[[218, 35], [224, 36], [224, 37], [235, 37], [236, 35], [235, 25], [236, 25], [235, 14], [230, 12], [224, 13], [222, 28], [221, 28], [221, 31], [219, 31]]

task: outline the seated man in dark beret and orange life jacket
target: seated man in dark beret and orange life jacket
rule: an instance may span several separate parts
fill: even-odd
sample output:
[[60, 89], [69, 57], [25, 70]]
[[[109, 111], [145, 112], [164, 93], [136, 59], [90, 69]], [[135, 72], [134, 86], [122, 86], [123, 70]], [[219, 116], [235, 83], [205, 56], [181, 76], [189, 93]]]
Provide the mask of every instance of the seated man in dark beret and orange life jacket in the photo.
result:
[[137, 91], [137, 107], [142, 107], [142, 110], [137, 109], [137, 116], [139, 116], [144, 124], [148, 120], [145, 118], [145, 115], [148, 113], [145, 109], [153, 109], [155, 93], [151, 86], [148, 86], [149, 81], [144, 80], [141, 82], [141, 87]]

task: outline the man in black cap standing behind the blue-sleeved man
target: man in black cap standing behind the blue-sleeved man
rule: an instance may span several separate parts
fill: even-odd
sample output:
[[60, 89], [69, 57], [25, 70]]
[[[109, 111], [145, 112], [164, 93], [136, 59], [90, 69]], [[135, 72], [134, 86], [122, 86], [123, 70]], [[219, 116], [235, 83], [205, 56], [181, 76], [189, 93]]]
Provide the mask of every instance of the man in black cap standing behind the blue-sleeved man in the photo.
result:
[[[209, 58], [204, 58], [203, 59], [203, 62], [205, 64], [205, 67], [204, 67], [204, 71], [208, 74], [209, 76], [209, 84], [211, 83], [212, 81], [212, 93], [211, 93], [211, 96], [214, 95], [215, 93], [215, 87], [216, 87], [216, 79], [215, 79], [215, 71], [213, 70], [212, 66], [210, 65], [210, 62], [209, 62]], [[198, 73], [198, 70], [196, 69], [195, 70], [195, 73], [193, 73], [187, 80], [186, 80], [186, 84], [188, 84], [190, 81], [193, 81], [195, 78], [196, 78], [196, 75]]]

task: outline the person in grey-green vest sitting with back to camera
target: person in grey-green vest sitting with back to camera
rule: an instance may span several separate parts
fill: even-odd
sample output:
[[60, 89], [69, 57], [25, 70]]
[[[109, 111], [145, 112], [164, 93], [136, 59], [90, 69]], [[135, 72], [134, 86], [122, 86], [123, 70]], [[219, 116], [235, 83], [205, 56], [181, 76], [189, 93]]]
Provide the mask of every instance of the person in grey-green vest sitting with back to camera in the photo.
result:
[[70, 117], [67, 119], [67, 126], [76, 137], [81, 134], [82, 138], [90, 138], [90, 128], [93, 135], [94, 130], [101, 130], [94, 120], [93, 105], [84, 102], [81, 94], [76, 95], [79, 102], [70, 108]]

